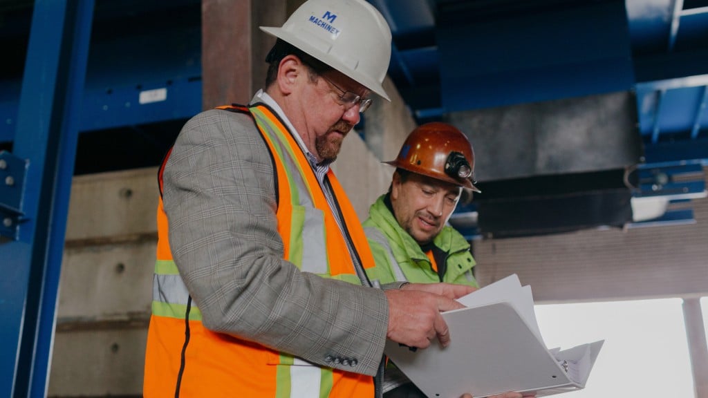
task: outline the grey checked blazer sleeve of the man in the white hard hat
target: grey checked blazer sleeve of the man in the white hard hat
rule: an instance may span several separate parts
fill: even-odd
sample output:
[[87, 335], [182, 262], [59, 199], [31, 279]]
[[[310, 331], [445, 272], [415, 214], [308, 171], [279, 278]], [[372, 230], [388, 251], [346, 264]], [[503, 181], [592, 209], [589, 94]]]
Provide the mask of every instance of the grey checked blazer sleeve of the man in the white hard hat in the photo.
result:
[[[300, 272], [282, 258], [273, 162], [248, 115], [207, 110], [189, 120], [163, 181], [173, 258], [205, 327], [375, 375], [387, 298], [379, 289]], [[356, 361], [335, 364], [333, 357]]]

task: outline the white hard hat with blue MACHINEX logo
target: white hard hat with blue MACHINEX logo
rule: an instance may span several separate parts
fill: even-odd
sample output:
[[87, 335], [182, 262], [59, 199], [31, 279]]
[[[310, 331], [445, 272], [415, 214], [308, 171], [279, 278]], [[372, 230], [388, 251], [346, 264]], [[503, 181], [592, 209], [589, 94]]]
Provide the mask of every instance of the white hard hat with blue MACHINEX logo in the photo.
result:
[[391, 101], [382, 86], [391, 59], [391, 30], [364, 0], [308, 0], [282, 28], [261, 26]]

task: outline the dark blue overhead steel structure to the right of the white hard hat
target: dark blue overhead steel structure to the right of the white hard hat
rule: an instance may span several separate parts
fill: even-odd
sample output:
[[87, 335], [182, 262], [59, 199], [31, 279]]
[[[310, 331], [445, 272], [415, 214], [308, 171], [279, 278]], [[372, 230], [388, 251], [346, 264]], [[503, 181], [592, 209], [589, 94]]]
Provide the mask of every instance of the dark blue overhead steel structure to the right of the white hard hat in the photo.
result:
[[[419, 122], [442, 119], [469, 127], [465, 132], [477, 152], [514, 152], [519, 136], [525, 137], [518, 125], [540, 123], [544, 127], [531, 133], [538, 147], [559, 149], [559, 142], [567, 142], [569, 152], [594, 151], [590, 156], [599, 159], [584, 169], [566, 164], [565, 169], [561, 165], [530, 173], [533, 164], [518, 156], [521, 149], [508, 159], [493, 151], [492, 164], [479, 175], [484, 192], [477, 205], [462, 207], [452, 220], [457, 218], [456, 226], [469, 237], [692, 222], [690, 209], [671, 210], [671, 204], [705, 195], [708, 1], [371, 3], [392, 27], [389, 76]], [[609, 118], [584, 129], [569, 125], [578, 123], [569, 115], [578, 112], [578, 106], [591, 117], [603, 118], [610, 110], [592, 100], [614, 106], [609, 105], [609, 93], [627, 93], [631, 101], [628, 107], [618, 105], [625, 107], [622, 120]], [[510, 115], [515, 110], [545, 116], [518, 118]], [[504, 123], [484, 123], [489, 118], [511, 118], [506, 124], [515, 128], [499, 128], [494, 134], [506, 140], [496, 137], [490, 144], [475, 130]], [[538, 142], [544, 135], [538, 129], [554, 123], [564, 125], [553, 135], [554, 142]], [[578, 133], [593, 137], [578, 141]], [[612, 142], [612, 148], [632, 142], [629, 145], [636, 148], [618, 163], [607, 157], [608, 147], [593, 145], [598, 141]], [[541, 151], [537, 148], [537, 162]], [[479, 155], [485, 156], [489, 154]], [[525, 169], [503, 176], [495, 172], [514, 162]], [[491, 174], [496, 178], [489, 181]], [[593, 194], [578, 196], [582, 190], [573, 185]], [[525, 200], [523, 192], [534, 199]], [[578, 210], [586, 208], [595, 212]]]

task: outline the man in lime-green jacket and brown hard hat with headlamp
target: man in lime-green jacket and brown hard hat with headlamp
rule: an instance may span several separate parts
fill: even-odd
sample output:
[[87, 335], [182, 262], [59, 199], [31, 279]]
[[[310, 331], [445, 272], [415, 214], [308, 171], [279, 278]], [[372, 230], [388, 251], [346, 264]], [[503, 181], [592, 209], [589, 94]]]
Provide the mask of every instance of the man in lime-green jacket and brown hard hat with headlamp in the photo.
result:
[[[363, 224], [376, 261], [370, 278], [382, 284], [447, 282], [476, 288], [469, 242], [447, 225], [462, 190], [479, 192], [467, 137], [447, 123], [427, 123], [413, 130], [398, 157], [386, 163], [396, 167], [389, 192], [370, 207]], [[385, 398], [426, 397], [393, 363], [384, 373], [383, 391]]]

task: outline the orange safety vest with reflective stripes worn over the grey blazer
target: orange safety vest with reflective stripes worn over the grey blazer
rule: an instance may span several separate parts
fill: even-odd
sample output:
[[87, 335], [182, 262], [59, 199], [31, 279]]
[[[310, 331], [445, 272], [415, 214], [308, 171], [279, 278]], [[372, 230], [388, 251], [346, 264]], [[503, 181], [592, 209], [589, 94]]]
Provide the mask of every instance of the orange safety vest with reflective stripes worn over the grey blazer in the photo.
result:
[[[270, 108], [222, 107], [250, 113], [273, 154], [278, 179], [278, 232], [283, 258], [301, 271], [360, 285], [335, 216], [305, 155]], [[168, 154], [169, 157], [169, 154]], [[160, 192], [162, 172], [159, 171]], [[364, 268], [374, 259], [352, 205], [330, 170], [333, 195]], [[303, 209], [304, 207], [304, 209]], [[305, 223], [309, 208], [324, 213], [322, 225]], [[293, 211], [293, 210], [297, 211]], [[300, 211], [305, 210], [305, 211]], [[319, 367], [261, 344], [206, 329], [173, 261], [162, 199], [152, 317], [145, 358], [144, 397], [373, 397], [373, 377]], [[318, 229], [309, 231], [308, 228]], [[306, 230], [307, 229], [307, 230]], [[313, 241], [319, 239], [319, 241]], [[309, 241], [307, 241], [309, 239]], [[305, 249], [307, 248], [307, 249]], [[317, 257], [319, 256], [319, 258]]]

